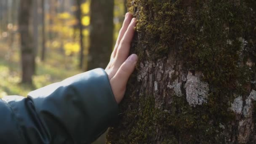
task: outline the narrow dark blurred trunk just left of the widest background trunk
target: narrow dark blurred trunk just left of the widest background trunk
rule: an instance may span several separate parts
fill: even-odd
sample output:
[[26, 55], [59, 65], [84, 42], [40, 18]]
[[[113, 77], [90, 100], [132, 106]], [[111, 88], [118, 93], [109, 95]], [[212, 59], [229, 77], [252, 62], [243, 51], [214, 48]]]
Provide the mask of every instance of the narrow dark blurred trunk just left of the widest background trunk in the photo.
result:
[[84, 45], [83, 45], [83, 24], [82, 24], [82, 9], [81, 4], [82, 0], [76, 0], [77, 2], [77, 20], [78, 20], [78, 27], [80, 32], [80, 57], [79, 57], [79, 68], [83, 68], [83, 62], [84, 62]]

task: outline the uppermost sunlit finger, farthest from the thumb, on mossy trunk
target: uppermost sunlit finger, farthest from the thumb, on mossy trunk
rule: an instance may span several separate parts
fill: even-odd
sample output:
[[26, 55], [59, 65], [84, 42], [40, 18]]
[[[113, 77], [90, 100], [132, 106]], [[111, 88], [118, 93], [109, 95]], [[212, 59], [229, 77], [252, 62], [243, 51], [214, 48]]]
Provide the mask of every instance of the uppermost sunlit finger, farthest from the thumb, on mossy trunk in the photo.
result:
[[117, 42], [115, 44], [115, 48], [114, 48], [113, 56], [112, 56], [113, 58], [116, 56], [118, 45], [120, 44], [120, 41], [122, 40], [123, 35], [125, 34], [129, 24], [131, 23], [131, 19], [132, 19], [131, 13], [126, 13], [125, 14], [125, 20], [123, 22], [123, 26], [120, 29], [118, 37], [117, 37]]

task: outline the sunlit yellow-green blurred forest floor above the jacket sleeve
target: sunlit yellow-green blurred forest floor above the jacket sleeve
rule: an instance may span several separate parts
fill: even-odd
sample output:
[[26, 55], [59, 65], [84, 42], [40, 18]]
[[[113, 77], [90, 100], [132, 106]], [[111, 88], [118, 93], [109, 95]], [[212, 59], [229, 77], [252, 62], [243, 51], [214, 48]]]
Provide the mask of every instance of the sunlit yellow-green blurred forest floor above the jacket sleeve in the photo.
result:
[[21, 61], [19, 46], [8, 48], [0, 42], [0, 97], [5, 95], [27, 96], [27, 93], [67, 77], [81, 73], [76, 56], [65, 56], [59, 49], [47, 51], [45, 62], [36, 58], [36, 75], [33, 86], [21, 84]]

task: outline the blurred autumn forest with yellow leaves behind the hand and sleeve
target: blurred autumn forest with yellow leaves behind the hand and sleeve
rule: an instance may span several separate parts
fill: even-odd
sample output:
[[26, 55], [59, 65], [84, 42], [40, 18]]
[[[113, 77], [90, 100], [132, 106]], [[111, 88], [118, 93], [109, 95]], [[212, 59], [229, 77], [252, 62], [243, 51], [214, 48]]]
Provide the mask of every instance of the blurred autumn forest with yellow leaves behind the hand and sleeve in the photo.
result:
[[0, 0], [0, 97], [105, 68], [125, 0]]

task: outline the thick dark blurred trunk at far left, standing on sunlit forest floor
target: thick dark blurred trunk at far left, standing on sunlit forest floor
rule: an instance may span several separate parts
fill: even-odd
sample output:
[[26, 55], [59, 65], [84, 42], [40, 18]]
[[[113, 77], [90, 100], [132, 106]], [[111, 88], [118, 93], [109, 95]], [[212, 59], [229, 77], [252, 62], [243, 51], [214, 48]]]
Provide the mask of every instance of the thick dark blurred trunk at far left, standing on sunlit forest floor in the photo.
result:
[[21, 40], [21, 83], [32, 84], [34, 74], [35, 53], [32, 36], [29, 32], [29, 18], [32, 10], [32, 0], [21, 0], [19, 11], [19, 32]]

